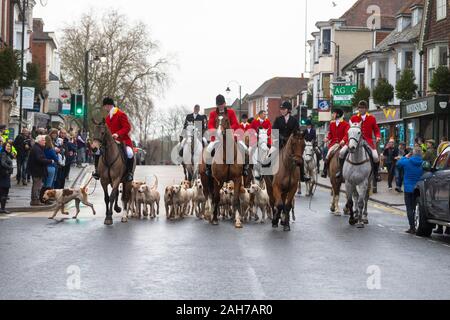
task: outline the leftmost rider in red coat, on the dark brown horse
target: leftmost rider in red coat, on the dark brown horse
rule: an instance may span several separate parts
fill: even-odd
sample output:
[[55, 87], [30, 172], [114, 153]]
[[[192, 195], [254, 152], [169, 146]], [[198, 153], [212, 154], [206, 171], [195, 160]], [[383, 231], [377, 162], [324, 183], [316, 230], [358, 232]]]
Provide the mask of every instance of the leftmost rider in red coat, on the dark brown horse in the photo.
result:
[[[133, 181], [133, 169], [134, 169], [134, 151], [133, 142], [130, 138], [131, 124], [128, 120], [125, 112], [120, 110], [114, 105], [114, 100], [111, 98], [105, 98], [103, 100], [103, 107], [108, 112], [106, 116], [105, 123], [108, 129], [111, 131], [113, 138], [124, 144], [126, 148], [126, 181]], [[100, 159], [100, 154], [97, 152], [95, 155], [95, 172], [92, 175], [95, 179], [100, 179], [98, 173], [98, 161]]]

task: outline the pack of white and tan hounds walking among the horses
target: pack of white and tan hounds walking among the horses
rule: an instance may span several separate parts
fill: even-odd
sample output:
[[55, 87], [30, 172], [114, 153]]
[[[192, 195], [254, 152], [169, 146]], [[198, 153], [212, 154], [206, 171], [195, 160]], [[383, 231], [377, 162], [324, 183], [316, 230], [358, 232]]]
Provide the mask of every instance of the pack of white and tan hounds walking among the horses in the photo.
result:
[[[158, 177], [155, 176], [153, 185], [143, 181], [132, 183], [130, 202], [126, 204], [127, 217], [133, 219], [155, 219], [160, 215], [161, 194], [158, 191]], [[235, 190], [233, 182], [225, 183], [220, 190], [219, 214], [222, 220], [231, 220], [233, 214], [233, 197], [239, 192], [240, 206], [238, 208], [244, 222], [265, 223], [273, 218], [270, 198], [264, 181], [251, 184], [250, 188]], [[59, 211], [63, 215], [69, 215], [65, 206], [74, 201], [76, 204], [77, 219], [80, 213], [80, 204], [92, 209], [96, 215], [94, 205], [88, 200], [87, 186], [80, 189], [48, 190], [44, 194], [45, 201], [55, 201], [57, 206], [49, 219], [54, 219]], [[166, 218], [171, 221], [196, 216], [198, 219], [210, 221], [212, 214], [211, 199], [207, 199], [204, 186], [200, 179], [193, 183], [183, 181], [165, 188], [164, 206]], [[293, 220], [295, 221], [295, 206], [293, 207]], [[261, 213], [261, 216], [259, 216]]]

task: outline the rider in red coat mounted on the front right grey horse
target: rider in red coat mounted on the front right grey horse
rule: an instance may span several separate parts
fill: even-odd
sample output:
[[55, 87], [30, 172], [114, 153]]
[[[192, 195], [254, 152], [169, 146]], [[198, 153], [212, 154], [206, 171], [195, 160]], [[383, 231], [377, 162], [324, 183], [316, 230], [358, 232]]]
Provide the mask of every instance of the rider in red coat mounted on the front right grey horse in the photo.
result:
[[[358, 104], [359, 113], [353, 116], [350, 119], [350, 124], [352, 123], [361, 123], [361, 131], [364, 141], [366, 142], [366, 151], [371, 158], [373, 171], [375, 173], [376, 180], [378, 182], [381, 181], [381, 177], [379, 175], [379, 167], [380, 167], [380, 156], [378, 155], [378, 151], [376, 148], [376, 144], [381, 141], [381, 132], [380, 128], [377, 124], [377, 119], [368, 113], [369, 105], [366, 101], [361, 101]], [[373, 136], [375, 136], [376, 143], [373, 141]], [[339, 154], [339, 163], [340, 163], [340, 171], [336, 174], [336, 177], [340, 177], [342, 175], [342, 169], [344, 167], [345, 159], [347, 158], [348, 153], [348, 143], [342, 148]]]

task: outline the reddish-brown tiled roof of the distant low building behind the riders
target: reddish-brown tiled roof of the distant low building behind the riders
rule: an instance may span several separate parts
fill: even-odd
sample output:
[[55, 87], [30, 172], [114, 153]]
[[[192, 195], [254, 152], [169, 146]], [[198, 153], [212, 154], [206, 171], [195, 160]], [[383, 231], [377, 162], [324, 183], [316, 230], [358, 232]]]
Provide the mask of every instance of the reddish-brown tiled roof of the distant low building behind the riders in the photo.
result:
[[308, 88], [308, 78], [277, 77], [266, 81], [249, 99], [268, 96], [292, 97]]

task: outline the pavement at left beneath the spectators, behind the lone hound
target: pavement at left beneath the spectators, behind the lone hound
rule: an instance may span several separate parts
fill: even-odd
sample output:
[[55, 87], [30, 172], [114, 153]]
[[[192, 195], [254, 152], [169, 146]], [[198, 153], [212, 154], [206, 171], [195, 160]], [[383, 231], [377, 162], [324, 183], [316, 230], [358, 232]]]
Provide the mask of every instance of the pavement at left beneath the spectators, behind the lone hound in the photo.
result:
[[[16, 168], [16, 165], [14, 165]], [[66, 186], [69, 188], [75, 187], [78, 183], [81, 183], [81, 178], [87, 173], [89, 165], [85, 165], [84, 168], [78, 168], [76, 166], [70, 169], [69, 180], [66, 182]], [[23, 186], [22, 183], [17, 184], [16, 180], [17, 171], [14, 169], [14, 173], [11, 176], [11, 189], [9, 191], [8, 203], [6, 209], [10, 212], [33, 212], [33, 211], [47, 211], [55, 208], [54, 205], [43, 207], [31, 207], [31, 186], [32, 182], [27, 186]]]

